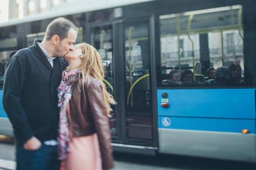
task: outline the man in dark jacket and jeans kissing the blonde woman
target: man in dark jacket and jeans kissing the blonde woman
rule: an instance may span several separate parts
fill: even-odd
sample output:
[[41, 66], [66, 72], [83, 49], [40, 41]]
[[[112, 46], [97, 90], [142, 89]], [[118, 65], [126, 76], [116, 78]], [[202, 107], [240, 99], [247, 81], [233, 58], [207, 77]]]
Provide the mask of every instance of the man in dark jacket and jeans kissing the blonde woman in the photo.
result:
[[66, 67], [63, 56], [74, 49], [77, 27], [53, 20], [43, 41], [19, 50], [6, 67], [3, 106], [16, 137], [18, 170], [59, 169], [57, 87]]

